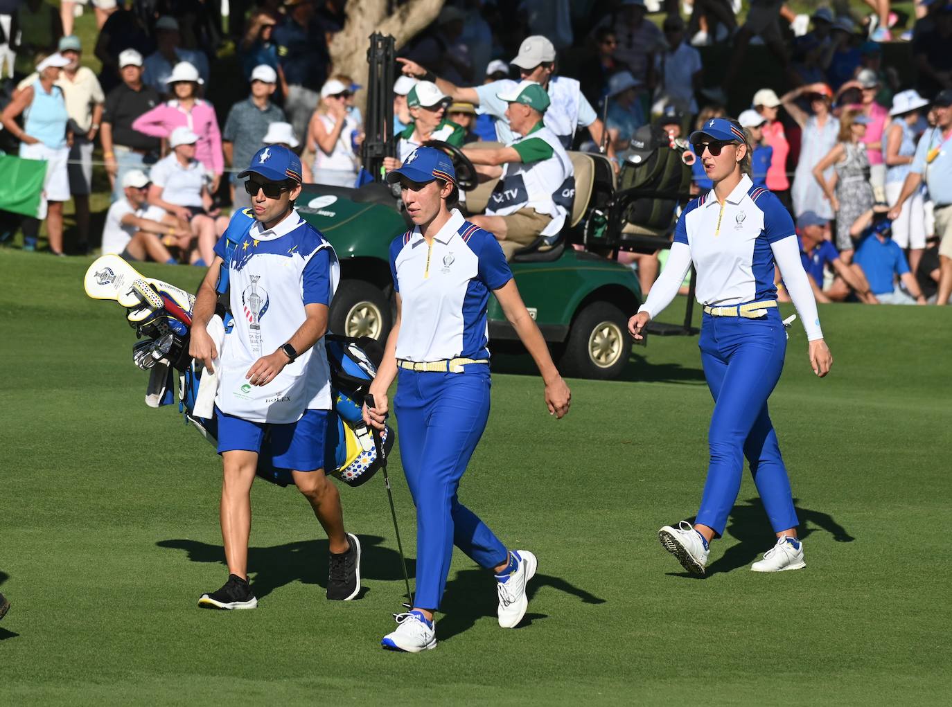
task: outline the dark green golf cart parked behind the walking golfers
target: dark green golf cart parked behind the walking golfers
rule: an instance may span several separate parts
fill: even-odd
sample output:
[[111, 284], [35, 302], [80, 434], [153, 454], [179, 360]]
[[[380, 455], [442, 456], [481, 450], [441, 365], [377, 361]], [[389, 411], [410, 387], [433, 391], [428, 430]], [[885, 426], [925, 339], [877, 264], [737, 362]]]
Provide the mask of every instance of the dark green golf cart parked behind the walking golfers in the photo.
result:
[[[392, 38], [373, 35], [368, 61], [367, 137], [362, 158], [367, 171], [379, 179], [383, 158], [394, 154]], [[476, 170], [460, 149], [441, 142], [429, 145], [451, 156], [466, 196], [464, 213], [482, 212], [494, 184], [477, 183]], [[467, 147], [484, 146], [498, 144]], [[627, 319], [643, 298], [632, 270], [606, 256], [624, 248], [651, 247], [653, 252], [667, 241], [662, 233], [653, 237], [623, 233], [631, 195], [628, 201], [615, 204], [616, 176], [604, 156], [586, 152], [569, 152], [569, 156], [575, 170], [575, 198], [561, 239], [545, 250], [534, 245], [523, 248], [510, 265], [529, 313], [560, 369], [570, 376], [612, 379], [628, 361], [632, 340], [626, 332]], [[305, 185], [297, 208], [327, 236], [340, 258], [341, 285], [330, 307], [331, 330], [351, 337], [385, 339], [393, 321], [388, 248], [412, 226], [402, 213], [399, 193], [382, 181], [359, 188]], [[669, 230], [671, 219], [667, 220]], [[642, 241], [636, 243], [636, 238]], [[494, 299], [488, 320], [489, 336], [497, 349], [518, 342]]]

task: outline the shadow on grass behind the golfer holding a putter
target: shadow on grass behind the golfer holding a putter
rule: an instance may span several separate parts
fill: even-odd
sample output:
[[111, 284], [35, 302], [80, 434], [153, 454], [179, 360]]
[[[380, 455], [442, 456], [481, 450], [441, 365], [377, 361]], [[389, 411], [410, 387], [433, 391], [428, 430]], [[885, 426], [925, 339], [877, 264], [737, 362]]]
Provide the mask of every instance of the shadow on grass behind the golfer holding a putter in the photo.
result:
[[[479, 568], [461, 570], [456, 573], [456, 577], [446, 582], [446, 593], [443, 595], [443, 604], [440, 606], [440, 613], [443, 614], [439, 620], [440, 640], [463, 633], [484, 617], [496, 619], [498, 599], [495, 584], [496, 580], [492, 578], [492, 575]], [[536, 575], [529, 581], [526, 589], [528, 599], [531, 600], [541, 587], [552, 587], [565, 594], [571, 594], [585, 604], [605, 603], [605, 599], [600, 599], [565, 579], [551, 575]], [[548, 615], [528, 613], [519, 623], [519, 628], [525, 628], [534, 621], [542, 619], [548, 619]]]

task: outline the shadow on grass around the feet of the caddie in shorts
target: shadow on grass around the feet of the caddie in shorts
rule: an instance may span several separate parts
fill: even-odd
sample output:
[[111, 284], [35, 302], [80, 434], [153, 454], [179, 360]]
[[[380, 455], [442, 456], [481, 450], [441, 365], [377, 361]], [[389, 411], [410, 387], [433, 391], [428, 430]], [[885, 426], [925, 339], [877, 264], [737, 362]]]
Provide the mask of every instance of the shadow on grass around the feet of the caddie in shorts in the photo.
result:
[[[361, 577], [364, 579], [404, 579], [400, 569], [400, 554], [384, 547], [383, 538], [359, 536], [361, 543]], [[211, 562], [226, 567], [225, 549], [197, 540], [160, 540], [159, 547], [184, 550], [192, 562]], [[301, 540], [271, 547], [248, 548], [248, 571], [251, 591], [258, 599], [267, 597], [275, 589], [300, 581], [317, 584], [327, 589], [327, 540]], [[412, 579], [416, 561], [407, 560], [407, 574]], [[209, 591], [215, 587], [209, 587]], [[402, 590], [401, 590], [402, 591]], [[367, 594], [364, 587], [357, 599]]]

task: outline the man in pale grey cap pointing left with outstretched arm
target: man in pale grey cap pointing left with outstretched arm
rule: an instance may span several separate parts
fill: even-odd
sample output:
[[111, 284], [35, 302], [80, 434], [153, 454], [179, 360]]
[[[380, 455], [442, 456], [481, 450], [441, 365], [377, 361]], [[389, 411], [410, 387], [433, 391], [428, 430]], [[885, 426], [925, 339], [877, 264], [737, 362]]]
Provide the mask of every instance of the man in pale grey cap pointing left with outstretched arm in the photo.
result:
[[[461, 88], [446, 79], [434, 76], [409, 59], [398, 58], [397, 61], [404, 65], [403, 71], [407, 76], [432, 81], [453, 101], [481, 106], [486, 113], [495, 117], [497, 119], [496, 136], [499, 142], [508, 145], [515, 137], [513, 132], [518, 130], [509, 124], [506, 118], [506, 101], [499, 98], [500, 94], [509, 93], [516, 86], [515, 81], [501, 79], [483, 86]], [[541, 34], [526, 37], [519, 46], [519, 54], [511, 63], [519, 67], [519, 74], [523, 81], [534, 81], [548, 93], [551, 108], [545, 113], [545, 125], [552, 130], [553, 134], [559, 136], [563, 147], [571, 147], [575, 130], [580, 126], [588, 128], [596, 145], [602, 144], [605, 125], [598, 119], [595, 109], [582, 94], [581, 84], [575, 79], [555, 75], [555, 47], [551, 42]], [[614, 159], [614, 151], [610, 144], [608, 156]]]

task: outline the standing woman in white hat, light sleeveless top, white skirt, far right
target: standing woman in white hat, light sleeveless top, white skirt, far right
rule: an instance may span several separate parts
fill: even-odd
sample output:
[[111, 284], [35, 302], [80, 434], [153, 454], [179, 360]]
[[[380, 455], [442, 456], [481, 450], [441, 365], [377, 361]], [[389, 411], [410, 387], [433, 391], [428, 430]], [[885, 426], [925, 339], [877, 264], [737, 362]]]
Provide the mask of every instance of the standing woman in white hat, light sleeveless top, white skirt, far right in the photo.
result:
[[[892, 123], [883, 134], [883, 161], [886, 165], [886, 202], [895, 204], [916, 156], [916, 143], [925, 129], [922, 108], [929, 102], [915, 90], [904, 90], [893, 98], [889, 111]], [[922, 189], [902, 205], [899, 218], [892, 222], [892, 239], [903, 250], [909, 249], [909, 269], [917, 272], [925, 247], [925, 201]]]

